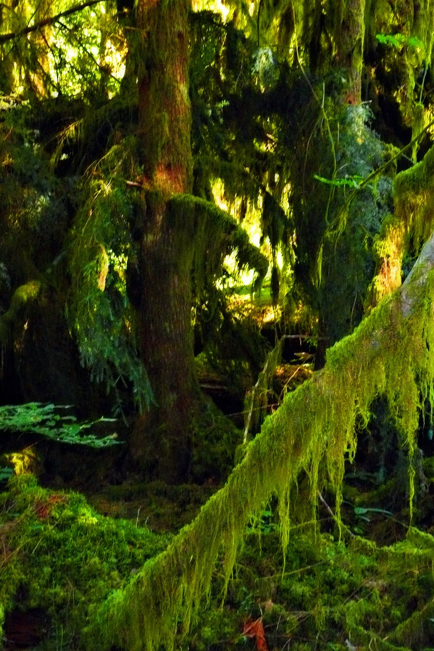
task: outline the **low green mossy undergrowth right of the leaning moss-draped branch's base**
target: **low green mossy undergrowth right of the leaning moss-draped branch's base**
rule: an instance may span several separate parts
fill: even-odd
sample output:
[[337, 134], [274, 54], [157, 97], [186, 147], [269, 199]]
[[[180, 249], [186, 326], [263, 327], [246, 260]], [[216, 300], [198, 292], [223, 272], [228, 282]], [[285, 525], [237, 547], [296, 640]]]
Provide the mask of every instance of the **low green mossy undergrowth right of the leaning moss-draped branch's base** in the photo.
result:
[[[182, 649], [422, 650], [434, 635], [434, 538], [410, 529], [389, 547], [298, 529], [283, 563], [279, 531], [250, 531], [222, 607], [201, 609]], [[284, 569], [283, 569], [284, 567]], [[218, 579], [219, 580], [219, 579]], [[220, 579], [222, 587], [222, 579]], [[249, 635], [261, 622], [264, 639]], [[256, 626], [259, 631], [259, 626]], [[265, 641], [265, 644], [264, 644]]]

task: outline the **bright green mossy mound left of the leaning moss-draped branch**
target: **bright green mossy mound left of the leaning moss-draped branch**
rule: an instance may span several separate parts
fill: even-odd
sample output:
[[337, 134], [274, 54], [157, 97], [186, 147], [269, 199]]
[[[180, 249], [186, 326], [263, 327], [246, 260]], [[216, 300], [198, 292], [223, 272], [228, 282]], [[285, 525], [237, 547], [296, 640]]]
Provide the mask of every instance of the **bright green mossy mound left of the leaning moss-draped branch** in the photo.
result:
[[[167, 544], [167, 536], [100, 516], [78, 493], [41, 488], [33, 475], [11, 478], [0, 494], [0, 540], [0, 624], [14, 607], [43, 609], [51, 631], [62, 628], [78, 648], [92, 605]], [[44, 648], [56, 648], [48, 635]]]

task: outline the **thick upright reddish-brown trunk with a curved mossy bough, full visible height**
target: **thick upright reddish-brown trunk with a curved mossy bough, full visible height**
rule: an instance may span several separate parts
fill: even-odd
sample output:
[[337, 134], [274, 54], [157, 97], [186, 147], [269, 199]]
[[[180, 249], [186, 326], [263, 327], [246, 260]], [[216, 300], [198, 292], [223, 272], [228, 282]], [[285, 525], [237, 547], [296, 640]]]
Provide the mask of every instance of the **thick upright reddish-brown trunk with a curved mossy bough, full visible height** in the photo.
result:
[[188, 96], [190, 0], [140, 0], [139, 143], [143, 154], [141, 357], [154, 393], [137, 421], [133, 458], [157, 477], [181, 481], [189, 462], [190, 421], [199, 393], [191, 323], [192, 223], [174, 194], [192, 190]]

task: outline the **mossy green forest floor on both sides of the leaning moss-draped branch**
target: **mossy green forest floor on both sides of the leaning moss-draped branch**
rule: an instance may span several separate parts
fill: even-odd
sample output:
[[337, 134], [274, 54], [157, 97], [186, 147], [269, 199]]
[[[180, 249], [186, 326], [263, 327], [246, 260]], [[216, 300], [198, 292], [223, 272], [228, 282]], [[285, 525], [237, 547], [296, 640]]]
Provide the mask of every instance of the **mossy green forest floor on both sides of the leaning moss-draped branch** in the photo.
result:
[[[423, 469], [427, 485], [420, 516], [427, 518], [432, 458], [424, 460]], [[218, 563], [209, 602], [194, 613], [190, 633], [179, 633], [175, 648], [431, 649], [434, 525], [409, 529], [408, 508], [394, 518], [385, 508], [376, 510], [374, 504], [386, 502], [374, 500], [387, 499], [387, 492], [369, 491], [369, 480], [358, 470], [353, 472], [358, 481], [345, 484], [343, 491], [341, 539], [336, 521], [321, 506], [316, 525], [294, 525], [284, 559], [276, 504], [265, 506], [246, 529], [225, 599], [224, 568]], [[22, 612], [29, 626], [35, 613], [42, 613], [44, 626], [33, 646], [11, 646], [5, 640], [3, 648], [96, 650], [97, 644], [89, 647], [86, 640], [95, 607], [166, 548], [171, 534], [154, 530], [177, 531], [212, 490], [130, 483], [89, 497], [94, 508], [80, 493], [42, 488], [33, 475], [9, 480], [0, 495], [0, 613], [7, 632], [11, 613]], [[349, 499], [353, 506], [366, 506], [365, 517], [361, 511], [359, 518], [354, 515]], [[361, 527], [364, 538], [354, 535]], [[381, 546], [372, 538], [381, 538], [385, 530], [390, 544]], [[259, 628], [252, 628], [255, 622]]]

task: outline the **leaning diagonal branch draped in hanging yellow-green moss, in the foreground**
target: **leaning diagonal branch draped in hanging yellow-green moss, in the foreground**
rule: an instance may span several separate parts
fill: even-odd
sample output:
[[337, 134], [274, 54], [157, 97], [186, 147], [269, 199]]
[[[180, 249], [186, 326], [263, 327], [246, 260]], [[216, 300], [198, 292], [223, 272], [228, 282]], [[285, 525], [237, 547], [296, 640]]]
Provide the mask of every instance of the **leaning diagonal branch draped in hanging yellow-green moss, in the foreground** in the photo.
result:
[[407, 282], [328, 352], [323, 370], [285, 396], [194, 522], [93, 613], [85, 631], [89, 649], [96, 639], [101, 649], [113, 643], [130, 651], [173, 648], [179, 622], [187, 631], [194, 608], [209, 594], [220, 558], [229, 580], [246, 523], [272, 493], [279, 497], [285, 549], [289, 504], [301, 471], [310, 479], [313, 510], [317, 490], [328, 480], [339, 514], [345, 457], [353, 458], [356, 450], [356, 422], [366, 424], [379, 395], [388, 401], [408, 450], [412, 498], [420, 408], [426, 398], [433, 402], [433, 268], [434, 234]]

